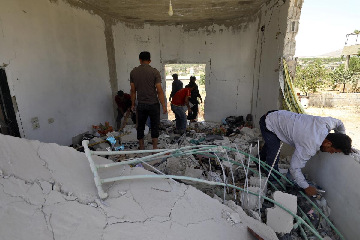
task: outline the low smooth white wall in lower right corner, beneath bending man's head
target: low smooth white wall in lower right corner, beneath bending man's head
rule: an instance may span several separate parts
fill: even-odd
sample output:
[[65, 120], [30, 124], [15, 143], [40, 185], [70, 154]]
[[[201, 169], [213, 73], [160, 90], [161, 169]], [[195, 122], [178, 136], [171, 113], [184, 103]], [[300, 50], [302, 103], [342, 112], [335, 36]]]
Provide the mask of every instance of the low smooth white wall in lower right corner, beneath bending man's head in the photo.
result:
[[331, 208], [330, 220], [345, 239], [359, 239], [359, 160], [341, 153], [320, 152], [302, 169], [326, 191], [324, 197]]

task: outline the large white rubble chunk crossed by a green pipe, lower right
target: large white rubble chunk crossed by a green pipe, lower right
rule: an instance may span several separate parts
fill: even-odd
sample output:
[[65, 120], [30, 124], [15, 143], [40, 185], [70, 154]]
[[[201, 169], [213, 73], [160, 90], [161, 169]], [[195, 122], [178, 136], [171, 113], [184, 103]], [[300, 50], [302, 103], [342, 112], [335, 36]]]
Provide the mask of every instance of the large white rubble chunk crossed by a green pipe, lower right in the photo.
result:
[[[272, 198], [296, 214], [296, 196], [276, 191]], [[280, 234], [290, 233], [294, 227], [294, 217], [277, 205], [274, 208], [267, 208], [266, 216], [266, 224]]]

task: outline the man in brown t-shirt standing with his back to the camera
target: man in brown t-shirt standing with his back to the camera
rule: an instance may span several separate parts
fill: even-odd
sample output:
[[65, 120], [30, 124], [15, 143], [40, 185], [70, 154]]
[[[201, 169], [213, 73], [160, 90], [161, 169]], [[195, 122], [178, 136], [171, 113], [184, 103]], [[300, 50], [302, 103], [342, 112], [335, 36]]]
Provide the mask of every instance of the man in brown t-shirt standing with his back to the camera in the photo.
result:
[[151, 138], [153, 149], [158, 149], [159, 123], [160, 123], [160, 104], [163, 114], [167, 113], [165, 96], [161, 88], [160, 72], [152, 68], [149, 52], [141, 52], [139, 55], [140, 66], [132, 69], [130, 73], [131, 86], [131, 110], [135, 110], [136, 93], [138, 95], [138, 139], [140, 150], [144, 150], [144, 130], [145, 123], [150, 117]]

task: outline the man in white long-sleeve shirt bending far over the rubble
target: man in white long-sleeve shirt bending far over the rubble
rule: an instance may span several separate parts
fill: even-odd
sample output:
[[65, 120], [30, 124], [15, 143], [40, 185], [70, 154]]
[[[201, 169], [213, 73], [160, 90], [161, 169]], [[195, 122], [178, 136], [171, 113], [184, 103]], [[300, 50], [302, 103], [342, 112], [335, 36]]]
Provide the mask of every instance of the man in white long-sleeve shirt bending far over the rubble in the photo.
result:
[[[270, 166], [280, 147], [280, 140], [296, 148], [287, 177], [303, 188], [309, 196], [316, 195], [316, 188], [305, 180], [301, 168], [305, 167], [316, 151], [320, 149], [328, 153], [343, 152], [346, 155], [351, 152], [351, 139], [345, 134], [344, 124], [332, 117], [274, 110], [260, 118], [260, 130], [265, 140], [260, 159], [266, 159]], [[331, 130], [335, 133], [330, 133]], [[274, 169], [279, 171], [278, 162], [279, 156], [274, 165]], [[273, 176], [270, 176], [269, 180], [275, 182]]]

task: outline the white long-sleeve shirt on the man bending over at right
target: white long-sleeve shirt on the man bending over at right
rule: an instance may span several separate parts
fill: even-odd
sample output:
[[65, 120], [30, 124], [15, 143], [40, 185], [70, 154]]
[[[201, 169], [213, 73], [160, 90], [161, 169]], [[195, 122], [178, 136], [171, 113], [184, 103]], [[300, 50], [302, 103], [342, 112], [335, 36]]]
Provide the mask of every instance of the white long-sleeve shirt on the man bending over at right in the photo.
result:
[[309, 187], [301, 168], [320, 149], [328, 133], [345, 133], [344, 124], [336, 118], [318, 117], [289, 111], [276, 111], [267, 114], [266, 128], [274, 132], [283, 142], [296, 149], [291, 158], [289, 171], [296, 183], [303, 189]]

